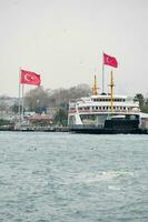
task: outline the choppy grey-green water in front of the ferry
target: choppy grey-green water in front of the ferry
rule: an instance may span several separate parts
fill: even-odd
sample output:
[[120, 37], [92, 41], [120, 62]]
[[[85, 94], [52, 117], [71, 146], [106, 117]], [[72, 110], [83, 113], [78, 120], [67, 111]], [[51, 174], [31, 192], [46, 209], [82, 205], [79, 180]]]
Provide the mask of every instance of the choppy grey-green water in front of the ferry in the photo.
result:
[[0, 132], [0, 222], [148, 222], [148, 135]]

